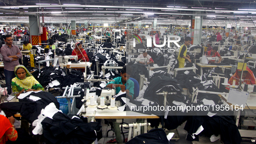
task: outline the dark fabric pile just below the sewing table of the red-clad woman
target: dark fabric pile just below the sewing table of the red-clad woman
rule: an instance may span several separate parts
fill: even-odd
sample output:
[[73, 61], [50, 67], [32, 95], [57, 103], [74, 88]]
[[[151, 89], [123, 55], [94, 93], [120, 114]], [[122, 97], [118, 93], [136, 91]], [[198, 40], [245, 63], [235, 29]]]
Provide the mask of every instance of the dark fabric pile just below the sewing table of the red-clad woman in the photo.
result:
[[62, 86], [70, 86], [76, 82], [84, 82], [84, 76], [81, 70], [71, 70], [67, 77], [65, 77], [65, 80], [62, 81]]

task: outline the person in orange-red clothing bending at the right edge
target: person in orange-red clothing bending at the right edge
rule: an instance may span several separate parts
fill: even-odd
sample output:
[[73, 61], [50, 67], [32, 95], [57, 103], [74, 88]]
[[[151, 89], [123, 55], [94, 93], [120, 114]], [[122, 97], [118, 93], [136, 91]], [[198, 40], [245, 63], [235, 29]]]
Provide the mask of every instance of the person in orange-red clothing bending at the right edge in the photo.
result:
[[[239, 85], [241, 73], [242, 73], [242, 70], [237, 69], [236, 73], [232, 77], [230, 77], [228, 83], [230, 85], [232, 85], [233, 80], [236, 80], [236, 85]], [[243, 76], [242, 76], [241, 83], [256, 84], [256, 78], [253, 74], [253, 71], [250, 70], [250, 68], [247, 66], [246, 66], [246, 70], [243, 70]]]

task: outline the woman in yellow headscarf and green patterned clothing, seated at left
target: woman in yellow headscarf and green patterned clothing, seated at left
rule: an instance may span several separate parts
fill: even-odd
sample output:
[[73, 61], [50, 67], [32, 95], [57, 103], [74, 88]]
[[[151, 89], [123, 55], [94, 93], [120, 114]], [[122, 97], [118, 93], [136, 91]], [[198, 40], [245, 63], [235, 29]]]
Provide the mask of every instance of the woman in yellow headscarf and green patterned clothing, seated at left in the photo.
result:
[[12, 89], [16, 96], [23, 93], [25, 90], [39, 91], [44, 90], [42, 85], [30, 74], [30, 72], [23, 65], [17, 65], [14, 69], [16, 77], [12, 79]]

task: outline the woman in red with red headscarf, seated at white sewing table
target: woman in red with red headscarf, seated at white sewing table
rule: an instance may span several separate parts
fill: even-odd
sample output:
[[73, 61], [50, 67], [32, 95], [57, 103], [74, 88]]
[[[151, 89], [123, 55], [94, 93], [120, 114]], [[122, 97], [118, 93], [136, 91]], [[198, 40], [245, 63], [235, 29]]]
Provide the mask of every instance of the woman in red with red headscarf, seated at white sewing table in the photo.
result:
[[84, 49], [82, 48], [82, 44], [80, 42], [76, 43], [75, 49], [72, 51], [72, 55], [77, 55], [78, 61], [89, 61], [86, 51], [84, 51]]

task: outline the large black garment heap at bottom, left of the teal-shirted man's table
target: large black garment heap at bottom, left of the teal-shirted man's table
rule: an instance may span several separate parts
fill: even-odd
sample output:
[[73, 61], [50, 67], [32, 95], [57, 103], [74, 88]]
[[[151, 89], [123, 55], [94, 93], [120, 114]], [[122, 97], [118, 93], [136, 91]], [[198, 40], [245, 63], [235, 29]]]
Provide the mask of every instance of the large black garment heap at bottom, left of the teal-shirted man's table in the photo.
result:
[[47, 117], [41, 124], [44, 137], [53, 144], [91, 144], [96, 138], [102, 138], [98, 133], [101, 129], [99, 123], [87, 123], [87, 118], [79, 115], [57, 112], [52, 119]]

